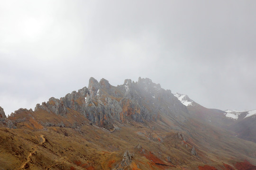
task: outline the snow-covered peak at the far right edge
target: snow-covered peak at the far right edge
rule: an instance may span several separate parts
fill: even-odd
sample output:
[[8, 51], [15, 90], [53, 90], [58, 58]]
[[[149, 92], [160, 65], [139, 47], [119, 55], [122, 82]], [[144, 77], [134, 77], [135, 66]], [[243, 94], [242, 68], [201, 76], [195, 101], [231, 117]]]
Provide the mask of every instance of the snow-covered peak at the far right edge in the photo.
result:
[[256, 115], [256, 110], [225, 110], [225, 116], [237, 120], [242, 117], [243, 119]]

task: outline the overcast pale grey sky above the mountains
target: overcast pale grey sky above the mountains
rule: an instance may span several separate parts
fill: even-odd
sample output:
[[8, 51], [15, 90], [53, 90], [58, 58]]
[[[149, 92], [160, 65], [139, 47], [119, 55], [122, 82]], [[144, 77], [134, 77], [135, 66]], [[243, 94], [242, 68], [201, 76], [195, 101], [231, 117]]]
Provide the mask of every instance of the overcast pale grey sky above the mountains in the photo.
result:
[[34, 109], [151, 78], [221, 110], [256, 109], [255, 0], [0, 0], [0, 106]]

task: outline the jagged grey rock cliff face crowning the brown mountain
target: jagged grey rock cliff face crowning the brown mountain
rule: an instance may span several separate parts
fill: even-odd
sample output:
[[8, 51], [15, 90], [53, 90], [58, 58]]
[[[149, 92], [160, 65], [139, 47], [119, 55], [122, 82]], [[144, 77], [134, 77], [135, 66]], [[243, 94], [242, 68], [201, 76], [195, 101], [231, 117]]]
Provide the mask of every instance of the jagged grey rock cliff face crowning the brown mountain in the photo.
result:
[[76, 110], [91, 122], [107, 128], [113, 128], [114, 120], [143, 122], [160, 119], [160, 114], [171, 114], [184, 120], [188, 112], [170, 90], [140, 77], [136, 83], [126, 79], [117, 87], [104, 78], [98, 82], [91, 77], [88, 88], [73, 91], [60, 99], [52, 97], [42, 105], [37, 104], [35, 111], [39, 109], [63, 117], [66, 117], [67, 109]]

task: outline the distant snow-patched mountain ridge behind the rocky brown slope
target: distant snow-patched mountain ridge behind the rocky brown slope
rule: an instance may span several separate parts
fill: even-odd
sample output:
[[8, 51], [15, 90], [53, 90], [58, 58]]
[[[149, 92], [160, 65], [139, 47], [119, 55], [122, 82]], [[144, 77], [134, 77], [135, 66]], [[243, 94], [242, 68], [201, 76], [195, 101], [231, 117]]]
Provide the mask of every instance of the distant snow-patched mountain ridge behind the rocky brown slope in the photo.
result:
[[190, 114], [201, 121], [208, 122], [215, 127], [223, 127], [235, 132], [235, 136], [256, 143], [256, 110], [216, 110], [207, 109], [194, 102], [186, 94], [175, 93]]

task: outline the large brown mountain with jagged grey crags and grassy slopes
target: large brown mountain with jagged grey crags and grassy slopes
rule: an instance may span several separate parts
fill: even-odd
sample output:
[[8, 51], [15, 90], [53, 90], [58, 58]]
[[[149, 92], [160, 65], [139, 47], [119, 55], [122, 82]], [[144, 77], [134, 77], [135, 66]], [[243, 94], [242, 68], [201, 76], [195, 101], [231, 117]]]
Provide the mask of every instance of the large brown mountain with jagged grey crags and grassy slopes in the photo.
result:
[[185, 106], [149, 78], [113, 86], [91, 77], [88, 88], [51, 97], [34, 111], [21, 108], [6, 118], [2, 110], [0, 168], [255, 169], [256, 143], [210, 124], [213, 113], [226, 118], [197, 103]]

